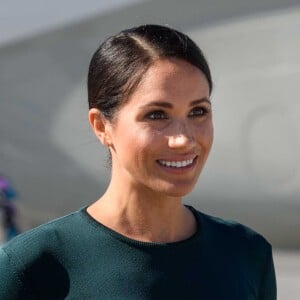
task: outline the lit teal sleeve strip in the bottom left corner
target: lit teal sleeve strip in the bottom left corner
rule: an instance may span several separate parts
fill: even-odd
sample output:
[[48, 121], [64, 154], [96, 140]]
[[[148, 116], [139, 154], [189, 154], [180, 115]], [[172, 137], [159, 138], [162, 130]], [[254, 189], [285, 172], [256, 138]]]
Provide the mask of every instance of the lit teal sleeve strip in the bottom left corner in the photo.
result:
[[25, 299], [23, 290], [10, 257], [0, 248], [0, 299]]

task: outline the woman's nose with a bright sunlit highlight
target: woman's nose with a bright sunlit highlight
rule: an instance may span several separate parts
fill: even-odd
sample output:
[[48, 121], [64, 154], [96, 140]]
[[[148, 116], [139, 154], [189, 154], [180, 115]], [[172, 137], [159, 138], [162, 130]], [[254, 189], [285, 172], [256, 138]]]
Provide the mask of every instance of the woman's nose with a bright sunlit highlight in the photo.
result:
[[168, 136], [168, 145], [170, 148], [189, 148], [195, 143], [192, 131], [186, 124], [178, 124], [175, 132]]

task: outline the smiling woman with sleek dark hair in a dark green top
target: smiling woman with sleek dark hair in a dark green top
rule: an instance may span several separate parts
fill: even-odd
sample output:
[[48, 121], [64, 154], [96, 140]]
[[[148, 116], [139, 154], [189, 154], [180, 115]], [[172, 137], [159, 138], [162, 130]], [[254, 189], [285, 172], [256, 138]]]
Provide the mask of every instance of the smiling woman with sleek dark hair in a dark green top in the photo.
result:
[[1, 251], [1, 299], [276, 299], [271, 246], [182, 204], [213, 140], [201, 50], [158, 25], [122, 31], [89, 68], [89, 121], [111, 157], [94, 204]]

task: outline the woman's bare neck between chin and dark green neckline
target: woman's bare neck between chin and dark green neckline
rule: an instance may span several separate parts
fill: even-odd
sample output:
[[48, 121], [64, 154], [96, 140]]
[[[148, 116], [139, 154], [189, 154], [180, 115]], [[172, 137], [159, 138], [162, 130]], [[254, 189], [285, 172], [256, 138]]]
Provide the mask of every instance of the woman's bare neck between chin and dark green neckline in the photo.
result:
[[181, 198], [129, 189], [128, 186], [120, 188], [112, 183], [88, 208], [88, 213], [103, 225], [145, 242], [180, 241], [196, 231], [195, 218]]

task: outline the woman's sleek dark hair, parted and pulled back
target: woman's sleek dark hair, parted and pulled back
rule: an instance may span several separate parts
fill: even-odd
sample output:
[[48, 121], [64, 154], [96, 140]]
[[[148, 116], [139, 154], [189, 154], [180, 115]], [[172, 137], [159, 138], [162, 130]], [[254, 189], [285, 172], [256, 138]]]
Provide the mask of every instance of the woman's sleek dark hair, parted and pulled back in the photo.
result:
[[165, 58], [182, 59], [199, 68], [211, 92], [208, 63], [187, 35], [166, 26], [142, 25], [111, 36], [94, 53], [88, 72], [89, 108], [112, 120], [149, 67]]

